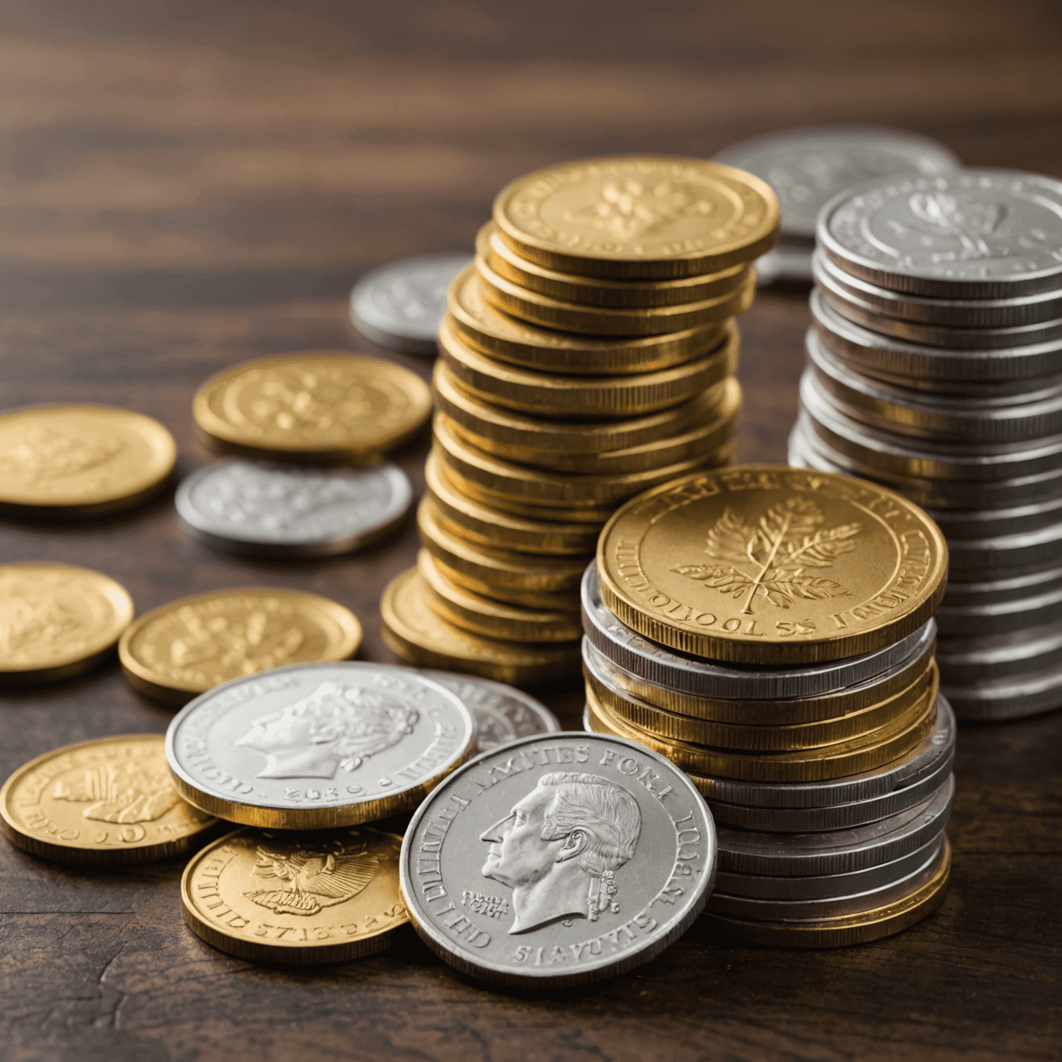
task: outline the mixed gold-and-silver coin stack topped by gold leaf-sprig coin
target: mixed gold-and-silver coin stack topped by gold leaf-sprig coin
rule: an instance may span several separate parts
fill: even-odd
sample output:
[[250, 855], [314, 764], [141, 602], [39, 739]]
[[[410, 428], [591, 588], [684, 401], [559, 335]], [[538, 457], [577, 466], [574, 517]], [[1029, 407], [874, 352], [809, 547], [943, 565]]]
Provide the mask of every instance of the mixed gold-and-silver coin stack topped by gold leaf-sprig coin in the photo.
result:
[[840, 946], [941, 900], [946, 570], [917, 506], [781, 466], [687, 474], [601, 532], [582, 586], [585, 725], [661, 753], [703, 793], [722, 930]]

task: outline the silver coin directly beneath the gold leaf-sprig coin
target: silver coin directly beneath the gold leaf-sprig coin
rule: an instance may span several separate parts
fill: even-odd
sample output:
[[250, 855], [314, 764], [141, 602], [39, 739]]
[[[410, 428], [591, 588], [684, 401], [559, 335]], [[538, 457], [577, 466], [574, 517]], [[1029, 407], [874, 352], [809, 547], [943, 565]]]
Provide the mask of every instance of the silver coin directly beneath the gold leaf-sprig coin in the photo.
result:
[[807, 668], [722, 667], [672, 652], [621, 623], [601, 600], [597, 562], [583, 573], [580, 588], [586, 637], [613, 663], [658, 686], [670, 686], [695, 697], [791, 700], [820, 697], [868, 682], [920, 654], [936, 637], [928, 620], [917, 631], [885, 649]]

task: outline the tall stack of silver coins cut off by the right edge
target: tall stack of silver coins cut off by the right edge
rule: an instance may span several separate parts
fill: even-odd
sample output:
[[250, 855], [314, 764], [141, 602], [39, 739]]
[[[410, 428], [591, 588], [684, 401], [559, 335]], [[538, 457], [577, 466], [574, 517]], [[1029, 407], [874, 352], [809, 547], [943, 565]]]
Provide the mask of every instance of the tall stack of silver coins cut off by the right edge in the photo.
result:
[[928, 508], [950, 572], [941, 684], [964, 719], [1062, 704], [1062, 183], [862, 185], [819, 218], [790, 463]]

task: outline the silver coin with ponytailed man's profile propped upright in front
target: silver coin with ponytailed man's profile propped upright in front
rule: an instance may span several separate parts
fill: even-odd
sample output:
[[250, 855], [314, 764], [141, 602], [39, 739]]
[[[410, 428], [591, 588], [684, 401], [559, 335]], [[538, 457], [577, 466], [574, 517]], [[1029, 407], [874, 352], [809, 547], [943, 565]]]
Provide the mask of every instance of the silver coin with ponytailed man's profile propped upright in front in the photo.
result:
[[703, 909], [715, 870], [715, 826], [689, 780], [634, 742], [578, 733], [477, 756], [425, 801], [401, 851], [428, 946], [516, 987], [647, 962]]

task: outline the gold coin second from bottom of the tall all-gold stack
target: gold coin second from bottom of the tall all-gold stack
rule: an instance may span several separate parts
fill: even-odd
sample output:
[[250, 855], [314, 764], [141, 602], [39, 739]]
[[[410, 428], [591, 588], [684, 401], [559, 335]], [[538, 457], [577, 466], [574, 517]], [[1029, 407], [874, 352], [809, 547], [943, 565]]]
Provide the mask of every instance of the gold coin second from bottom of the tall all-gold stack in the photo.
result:
[[416, 570], [432, 610], [447, 623], [469, 634], [502, 641], [543, 643], [572, 641], [582, 636], [578, 612], [520, 609], [473, 594], [450, 582], [426, 549], [417, 553]]

